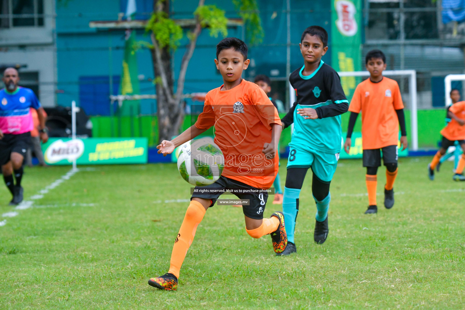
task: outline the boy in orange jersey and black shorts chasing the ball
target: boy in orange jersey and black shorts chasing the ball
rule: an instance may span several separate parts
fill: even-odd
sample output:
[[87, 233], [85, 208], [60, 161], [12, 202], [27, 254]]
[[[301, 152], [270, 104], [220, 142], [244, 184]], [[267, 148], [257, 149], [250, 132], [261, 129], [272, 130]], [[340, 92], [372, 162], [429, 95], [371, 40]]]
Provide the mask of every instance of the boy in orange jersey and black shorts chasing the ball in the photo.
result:
[[263, 189], [271, 187], [278, 172], [277, 148], [282, 126], [278, 111], [265, 92], [255, 83], [242, 79], [242, 71], [247, 69], [249, 62], [243, 41], [237, 38], [221, 40], [217, 45], [215, 64], [224, 84], [206, 94], [203, 112], [193, 126], [173, 140], [163, 140], [157, 146], [158, 152], [166, 156], [214, 125], [214, 141], [225, 156], [225, 167], [218, 181], [201, 187], [208, 192], [196, 194], [194, 190], [173, 245], [170, 269], [165, 275], [148, 281], [153, 287], [177, 289], [179, 270], [197, 226], [206, 210], [213, 207], [218, 197], [228, 189], [239, 188], [246, 193], [236, 196], [250, 200], [250, 205], [242, 207], [247, 233], [254, 238], [271, 234], [276, 253], [286, 248], [283, 213], [274, 212], [270, 218], [263, 218], [268, 198]]

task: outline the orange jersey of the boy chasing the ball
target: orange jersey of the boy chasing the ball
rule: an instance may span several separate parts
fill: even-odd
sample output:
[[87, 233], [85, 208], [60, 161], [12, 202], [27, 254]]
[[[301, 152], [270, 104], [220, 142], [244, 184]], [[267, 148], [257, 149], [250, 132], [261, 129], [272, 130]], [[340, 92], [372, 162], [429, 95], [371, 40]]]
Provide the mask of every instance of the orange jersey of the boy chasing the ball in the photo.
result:
[[225, 156], [223, 176], [257, 188], [271, 187], [278, 172], [278, 153], [265, 158], [263, 145], [272, 142], [272, 124], [281, 125], [278, 111], [255, 83], [245, 79], [226, 91], [208, 92], [199, 129], [215, 126], [215, 143]]

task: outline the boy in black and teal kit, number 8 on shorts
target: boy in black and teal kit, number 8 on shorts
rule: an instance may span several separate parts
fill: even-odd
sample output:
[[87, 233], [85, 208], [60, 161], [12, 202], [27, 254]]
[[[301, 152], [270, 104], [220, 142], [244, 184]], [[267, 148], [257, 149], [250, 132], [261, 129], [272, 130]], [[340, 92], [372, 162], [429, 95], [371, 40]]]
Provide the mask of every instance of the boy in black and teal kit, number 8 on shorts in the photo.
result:
[[287, 246], [279, 255], [296, 252], [294, 229], [299, 211], [299, 194], [308, 168], [312, 169], [312, 194], [317, 206], [313, 239], [322, 244], [328, 236], [329, 185], [341, 150], [341, 117], [347, 112], [339, 75], [321, 57], [328, 50], [328, 33], [320, 26], [310, 26], [302, 33], [300, 52], [304, 66], [289, 76], [297, 101], [281, 119], [283, 129], [294, 123], [287, 161], [283, 213]]

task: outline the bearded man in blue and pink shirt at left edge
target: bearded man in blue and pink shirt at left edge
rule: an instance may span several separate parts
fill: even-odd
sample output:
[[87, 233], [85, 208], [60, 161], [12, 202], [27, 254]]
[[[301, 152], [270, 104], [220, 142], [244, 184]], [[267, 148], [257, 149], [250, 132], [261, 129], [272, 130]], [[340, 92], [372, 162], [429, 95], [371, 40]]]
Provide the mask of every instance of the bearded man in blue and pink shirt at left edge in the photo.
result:
[[31, 107], [38, 110], [40, 140], [44, 143], [48, 140], [39, 99], [29, 88], [18, 86], [19, 80], [18, 71], [7, 68], [3, 72], [5, 88], [0, 90], [0, 165], [5, 184], [13, 195], [10, 205], [17, 205], [23, 200], [23, 159], [33, 130]]

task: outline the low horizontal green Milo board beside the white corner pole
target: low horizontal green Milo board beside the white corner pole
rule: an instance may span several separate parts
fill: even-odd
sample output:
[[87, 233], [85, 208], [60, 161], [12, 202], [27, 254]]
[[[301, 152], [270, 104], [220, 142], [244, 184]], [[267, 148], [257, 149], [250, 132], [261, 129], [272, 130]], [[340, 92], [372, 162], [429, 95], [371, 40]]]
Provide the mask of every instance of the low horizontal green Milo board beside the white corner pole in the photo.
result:
[[47, 165], [146, 164], [147, 138], [50, 138], [42, 145]]

